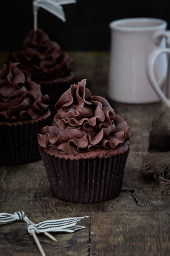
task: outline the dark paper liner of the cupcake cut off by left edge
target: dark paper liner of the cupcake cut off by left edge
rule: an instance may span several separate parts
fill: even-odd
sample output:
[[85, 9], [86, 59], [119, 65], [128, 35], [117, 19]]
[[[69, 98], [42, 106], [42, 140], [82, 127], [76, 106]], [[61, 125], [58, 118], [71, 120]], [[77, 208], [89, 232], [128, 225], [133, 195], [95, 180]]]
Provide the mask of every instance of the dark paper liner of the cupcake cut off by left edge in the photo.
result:
[[0, 165], [21, 165], [41, 158], [37, 134], [44, 126], [50, 126], [52, 117], [23, 124], [0, 126]]

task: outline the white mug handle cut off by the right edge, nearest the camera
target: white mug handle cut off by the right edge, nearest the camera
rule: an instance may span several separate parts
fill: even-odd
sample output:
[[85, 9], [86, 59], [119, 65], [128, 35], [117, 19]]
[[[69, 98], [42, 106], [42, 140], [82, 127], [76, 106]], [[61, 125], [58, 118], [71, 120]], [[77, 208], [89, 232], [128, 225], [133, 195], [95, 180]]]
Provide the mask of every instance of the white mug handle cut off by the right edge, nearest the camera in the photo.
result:
[[146, 74], [158, 98], [160, 98], [162, 102], [164, 102], [167, 106], [170, 107], [170, 100], [165, 96], [163, 91], [160, 89], [160, 86], [158, 85], [158, 82], [156, 81], [154, 75], [154, 63], [157, 57], [162, 53], [167, 53], [170, 56], [170, 48], [158, 48], [152, 51], [152, 53], [150, 53], [150, 55], [148, 56], [148, 61], [146, 63]]

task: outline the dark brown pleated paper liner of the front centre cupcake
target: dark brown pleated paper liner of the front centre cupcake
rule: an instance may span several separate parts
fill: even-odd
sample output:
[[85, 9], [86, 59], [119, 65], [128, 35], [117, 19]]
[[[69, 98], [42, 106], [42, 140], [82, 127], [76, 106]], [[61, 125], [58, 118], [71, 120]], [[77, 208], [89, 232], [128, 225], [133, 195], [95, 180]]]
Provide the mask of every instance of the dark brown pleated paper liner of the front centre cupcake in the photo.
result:
[[117, 197], [129, 150], [112, 158], [65, 160], [39, 147], [52, 193], [59, 199], [94, 203]]

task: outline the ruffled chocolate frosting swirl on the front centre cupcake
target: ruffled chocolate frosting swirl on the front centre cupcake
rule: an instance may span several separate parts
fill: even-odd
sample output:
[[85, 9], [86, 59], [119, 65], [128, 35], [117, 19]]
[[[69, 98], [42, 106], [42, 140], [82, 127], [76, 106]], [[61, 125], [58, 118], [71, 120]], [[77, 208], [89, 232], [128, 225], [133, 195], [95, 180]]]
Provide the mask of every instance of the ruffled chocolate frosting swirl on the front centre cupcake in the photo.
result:
[[129, 126], [99, 96], [91, 96], [86, 80], [71, 85], [56, 103], [54, 126], [38, 134], [41, 147], [77, 154], [96, 148], [114, 149], [130, 139]]

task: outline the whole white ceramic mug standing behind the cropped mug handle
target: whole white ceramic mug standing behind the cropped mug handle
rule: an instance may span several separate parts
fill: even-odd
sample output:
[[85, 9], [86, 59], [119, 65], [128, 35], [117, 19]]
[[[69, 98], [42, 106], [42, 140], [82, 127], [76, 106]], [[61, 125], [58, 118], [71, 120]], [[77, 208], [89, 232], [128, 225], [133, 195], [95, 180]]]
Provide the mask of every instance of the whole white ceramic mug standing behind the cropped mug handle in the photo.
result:
[[[154, 48], [165, 47], [165, 20], [126, 18], [109, 24], [112, 35], [109, 66], [109, 98], [124, 103], [158, 102], [146, 74], [148, 55]], [[160, 55], [154, 72], [159, 85], [165, 81], [167, 56]]]

